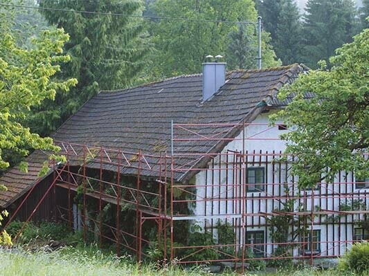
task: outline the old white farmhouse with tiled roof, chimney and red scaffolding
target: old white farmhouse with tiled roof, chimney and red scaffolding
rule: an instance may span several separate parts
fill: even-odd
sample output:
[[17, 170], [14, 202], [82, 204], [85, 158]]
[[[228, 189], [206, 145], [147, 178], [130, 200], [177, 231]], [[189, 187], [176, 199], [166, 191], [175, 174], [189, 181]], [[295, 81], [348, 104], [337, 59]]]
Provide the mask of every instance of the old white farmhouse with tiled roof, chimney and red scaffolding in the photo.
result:
[[368, 183], [342, 172], [300, 189], [279, 138], [288, 129], [269, 125], [291, 100], [279, 89], [306, 70], [226, 73], [209, 62], [203, 74], [101, 91], [53, 134], [67, 162], [40, 179], [47, 156], [30, 154], [28, 174], [0, 178], [1, 208], [12, 219], [64, 219], [138, 260], [153, 246], [183, 264], [340, 256], [369, 237]]

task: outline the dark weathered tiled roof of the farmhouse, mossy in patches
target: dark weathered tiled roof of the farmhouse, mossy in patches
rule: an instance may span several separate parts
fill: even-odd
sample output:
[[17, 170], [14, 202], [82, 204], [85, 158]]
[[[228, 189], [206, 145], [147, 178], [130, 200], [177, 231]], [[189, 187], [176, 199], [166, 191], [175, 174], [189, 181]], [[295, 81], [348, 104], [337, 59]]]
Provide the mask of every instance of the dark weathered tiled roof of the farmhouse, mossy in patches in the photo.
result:
[[[276, 93], [301, 71], [303, 68], [298, 64], [265, 70], [232, 71], [227, 73], [226, 84], [206, 102], [201, 102], [201, 74], [173, 77], [122, 91], [102, 91], [64, 122], [53, 138], [129, 152], [141, 150], [147, 154], [159, 154], [159, 149], [170, 152], [172, 120], [191, 124], [235, 124], [253, 120], [253, 113], [261, 111], [260, 102], [273, 106], [282, 104], [276, 100]], [[202, 127], [197, 132], [208, 136], [222, 132], [222, 127]], [[231, 138], [236, 134], [235, 129], [224, 129], [223, 135]], [[183, 141], [176, 142], [174, 150], [176, 153], [213, 152], [222, 147], [222, 142], [216, 140]], [[8, 192], [0, 192], [1, 206], [6, 206], [19, 192], [33, 184], [37, 178], [33, 171], [41, 167], [40, 159], [42, 154], [35, 151], [28, 158], [32, 173], [21, 174], [14, 168], [0, 178], [9, 188]], [[190, 158], [181, 158], [177, 162], [177, 165], [187, 164]], [[194, 162], [191, 165], [200, 165]], [[91, 163], [90, 166], [97, 164]], [[134, 170], [123, 167], [122, 172], [133, 174]], [[149, 170], [144, 170], [142, 174], [154, 176], [154, 172]], [[185, 174], [175, 176], [179, 180], [184, 177]]]

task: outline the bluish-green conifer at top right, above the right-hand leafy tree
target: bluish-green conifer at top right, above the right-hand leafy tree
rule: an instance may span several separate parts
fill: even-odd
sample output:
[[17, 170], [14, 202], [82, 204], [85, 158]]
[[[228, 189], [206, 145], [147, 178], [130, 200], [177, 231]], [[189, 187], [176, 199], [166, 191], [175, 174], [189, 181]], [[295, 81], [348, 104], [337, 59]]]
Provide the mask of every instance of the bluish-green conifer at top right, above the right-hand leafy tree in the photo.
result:
[[309, 0], [303, 23], [303, 62], [316, 68], [328, 61], [334, 50], [350, 42], [356, 28], [356, 9], [352, 0]]

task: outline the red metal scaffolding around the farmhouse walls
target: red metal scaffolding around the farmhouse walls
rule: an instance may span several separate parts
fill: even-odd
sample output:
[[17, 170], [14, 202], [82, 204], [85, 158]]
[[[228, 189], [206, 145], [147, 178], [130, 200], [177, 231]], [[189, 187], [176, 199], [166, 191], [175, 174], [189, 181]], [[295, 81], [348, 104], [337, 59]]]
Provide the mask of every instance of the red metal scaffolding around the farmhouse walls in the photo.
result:
[[[248, 127], [262, 129], [248, 136]], [[56, 189], [64, 191], [55, 214], [71, 231], [81, 229], [100, 246], [115, 243], [117, 255], [124, 248], [137, 261], [150, 248], [164, 262], [231, 264], [242, 271], [255, 259], [314, 264], [341, 256], [369, 239], [368, 183], [341, 172], [334, 183], [298, 187], [290, 172], [294, 156], [257, 150], [251, 142], [279, 140], [266, 134], [284, 127], [172, 123], [170, 154], [55, 141], [66, 163], [53, 163], [46, 194], [57, 202]], [[197, 147], [190, 147], [194, 141]], [[214, 152], [201, 152], [209, 147]]]

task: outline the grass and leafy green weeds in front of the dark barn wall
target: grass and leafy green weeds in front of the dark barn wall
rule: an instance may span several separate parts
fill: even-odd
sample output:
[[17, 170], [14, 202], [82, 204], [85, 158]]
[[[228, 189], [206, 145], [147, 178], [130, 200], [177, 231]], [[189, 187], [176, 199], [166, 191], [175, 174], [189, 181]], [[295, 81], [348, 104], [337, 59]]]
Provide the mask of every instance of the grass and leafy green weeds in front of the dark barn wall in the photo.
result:
[[[22, 225], [22, 223], [13, 222], [9, 228], [10, 233], [17, 233]], [[109, 248], [109, 246], [101, 251], [94, 243], [89, 246], [85, 245], [82, 242], [81, 235], [81, 232], [71, 234], [66, 230], [66, 226], [57, 223], [41, 223], [39, 226], [28, 223], [18, 240], [17, 246], [10, 249], [0, 247], [0, 276], [210, 275], [204, 266], [181, 268], [171, 265], [166, 268], [159, 268], [157, 264], [147, 263], [138, 266], [131, 256], [116, 257], [114, 253], [111, 253], [111, 247]], [[57, 241], [56, 247], [55, 241]], [[240, 274], [229, 270], [221, 275]], [[318, 270], [310, 267], [300, 268], [300, 270], [296, 270], [296, 268], [291, 271], [283, 270], [277, 273], [248, 272], [246, 275], [354, 276], [354, 273], [339, 273], [338, 270], [334, 269]], [[369, 273], [363, 276], [369, 276]]]

